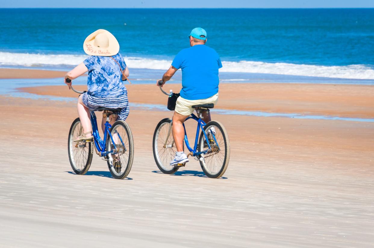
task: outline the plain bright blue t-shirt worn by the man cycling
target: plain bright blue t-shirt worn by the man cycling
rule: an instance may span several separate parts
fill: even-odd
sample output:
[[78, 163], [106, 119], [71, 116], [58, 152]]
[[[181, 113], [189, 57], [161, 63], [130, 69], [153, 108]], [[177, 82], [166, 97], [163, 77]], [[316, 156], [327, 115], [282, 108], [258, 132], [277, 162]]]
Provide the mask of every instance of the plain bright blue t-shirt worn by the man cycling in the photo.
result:
[[187, 100], [206, 99], [218, 93], [218, 69], [222, 67], [218, 53], [206, 45], [181, 50], [171, 63], [182, 69], [181, 97]]

